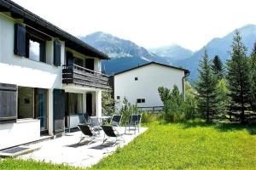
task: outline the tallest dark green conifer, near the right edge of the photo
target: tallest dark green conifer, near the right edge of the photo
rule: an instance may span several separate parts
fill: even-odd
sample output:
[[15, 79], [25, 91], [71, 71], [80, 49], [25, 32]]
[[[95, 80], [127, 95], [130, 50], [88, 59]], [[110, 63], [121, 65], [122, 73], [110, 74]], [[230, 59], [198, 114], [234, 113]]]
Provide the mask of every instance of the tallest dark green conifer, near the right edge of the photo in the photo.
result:
[[249, 109], [251, 103], [249, 65], [246, 56], [247, 48], [241, 42], [241, 35], [237, 30], [231, 48], [231, 59], [227, 61], [227, 81], [231, 97], [230, 112], [244, 123], [245, 111]]

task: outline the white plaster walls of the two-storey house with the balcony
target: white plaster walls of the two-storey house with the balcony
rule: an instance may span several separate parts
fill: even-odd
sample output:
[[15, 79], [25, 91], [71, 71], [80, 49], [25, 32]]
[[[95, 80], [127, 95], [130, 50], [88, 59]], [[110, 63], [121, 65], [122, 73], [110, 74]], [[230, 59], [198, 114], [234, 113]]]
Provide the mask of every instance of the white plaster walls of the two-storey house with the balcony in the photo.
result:
[[[92, 111], [96, 116], [102, 115], [102, 89], [73, 84], [62, 84], [62, 66], [55, 66], [52, 41], [46, 42], [46, 63], [20, 57], [14, 54], [15, 20], [9, 15], [0, 13], [0, 83], [15, 84], [18, 87], [47, 89], [47, 129], [49, 135], [54, 134], [53, 89], [64, 89], [65, 92], [83, 94], [83, 111], [86, 108], [86, 93], [93, 96]], [[21, 20], [21, 25], [22, 20]], [[66, 52], [72, 51], [75, 57], [92, 58], [73, 49], [65, 47], [61, 42], [61, 65], [66, 63]], [[94, 59], [94, 71], [101, 71], [101, 60]], [[0, 150], [16, 144], [24, 144], [40, 137], [40, 121], [38, 119], [18, 119], [14, 123], [0, 123]]]

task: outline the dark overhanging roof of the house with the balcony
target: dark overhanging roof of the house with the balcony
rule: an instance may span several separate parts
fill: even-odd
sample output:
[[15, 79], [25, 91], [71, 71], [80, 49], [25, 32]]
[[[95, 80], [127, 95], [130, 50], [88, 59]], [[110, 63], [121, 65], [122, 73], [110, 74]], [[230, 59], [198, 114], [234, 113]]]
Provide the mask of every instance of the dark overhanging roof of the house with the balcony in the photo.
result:
[[49, 23], [33, 14], [26, 8], [21, 7], [17, 3], [10, 0], [0, 0], [0, 11], [9, 12], [12, 18], [22, 19], [27, 26], [32, 26], [38, 31], [47, 33], [51, 37], [59, 37], [61, 41], [65, 42], [68, 48], [73, 48], [81, 54], [88, 54], [99, 59], [109, 59], [107, 54], [103, 54], [100, 50], [91, 47], [89, 44], [83, 42], [78, 37], [61, 30], [61, 28]]

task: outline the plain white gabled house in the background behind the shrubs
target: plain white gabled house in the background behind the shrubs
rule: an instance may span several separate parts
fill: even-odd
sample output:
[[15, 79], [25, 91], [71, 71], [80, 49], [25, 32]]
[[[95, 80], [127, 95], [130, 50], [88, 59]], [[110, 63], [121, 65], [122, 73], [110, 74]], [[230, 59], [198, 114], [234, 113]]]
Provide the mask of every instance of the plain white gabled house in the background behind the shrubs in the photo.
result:
[[142, 109], [162, 107], [163, 103], [158, 93], [159, 87], [173, 88], [177, 85], [184, 94], [184, 78], [189, 71], [171, 65], [149, 62], [138, 65], [126, 71], [116, 73], [110, 82], [113, 88], [114, 99], [118, 101], [118, 109], [123, 105], [123, 99]]

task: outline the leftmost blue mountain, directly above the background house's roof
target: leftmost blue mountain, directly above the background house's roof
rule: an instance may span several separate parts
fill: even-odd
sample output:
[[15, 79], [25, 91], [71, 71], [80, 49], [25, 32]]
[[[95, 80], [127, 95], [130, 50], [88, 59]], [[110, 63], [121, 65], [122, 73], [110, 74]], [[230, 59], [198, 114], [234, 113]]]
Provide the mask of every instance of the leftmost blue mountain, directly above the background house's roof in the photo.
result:
[[79, 37], [92, 47], [108, 54], [109, 60], [102, 60], [102, 69], [107, 74], [130, 69], [137, 65], [143, 65], [149, 61], [167, 63], [166, 59], [148, 52], [146, 48], [139, 47], [136, 43], [114, 37], [111, 34], [97, 31], [86, 37]]

